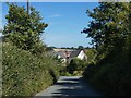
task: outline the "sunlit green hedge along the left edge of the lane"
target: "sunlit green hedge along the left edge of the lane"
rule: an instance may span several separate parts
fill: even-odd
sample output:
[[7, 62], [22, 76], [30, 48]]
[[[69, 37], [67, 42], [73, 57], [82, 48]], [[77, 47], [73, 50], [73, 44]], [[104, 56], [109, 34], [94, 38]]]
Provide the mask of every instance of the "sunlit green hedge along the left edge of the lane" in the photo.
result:
[[3, 96], [33, 96], [59, 77], [57, 62], [49, 57], [33, 56], [9, 42], [3, 44]]

